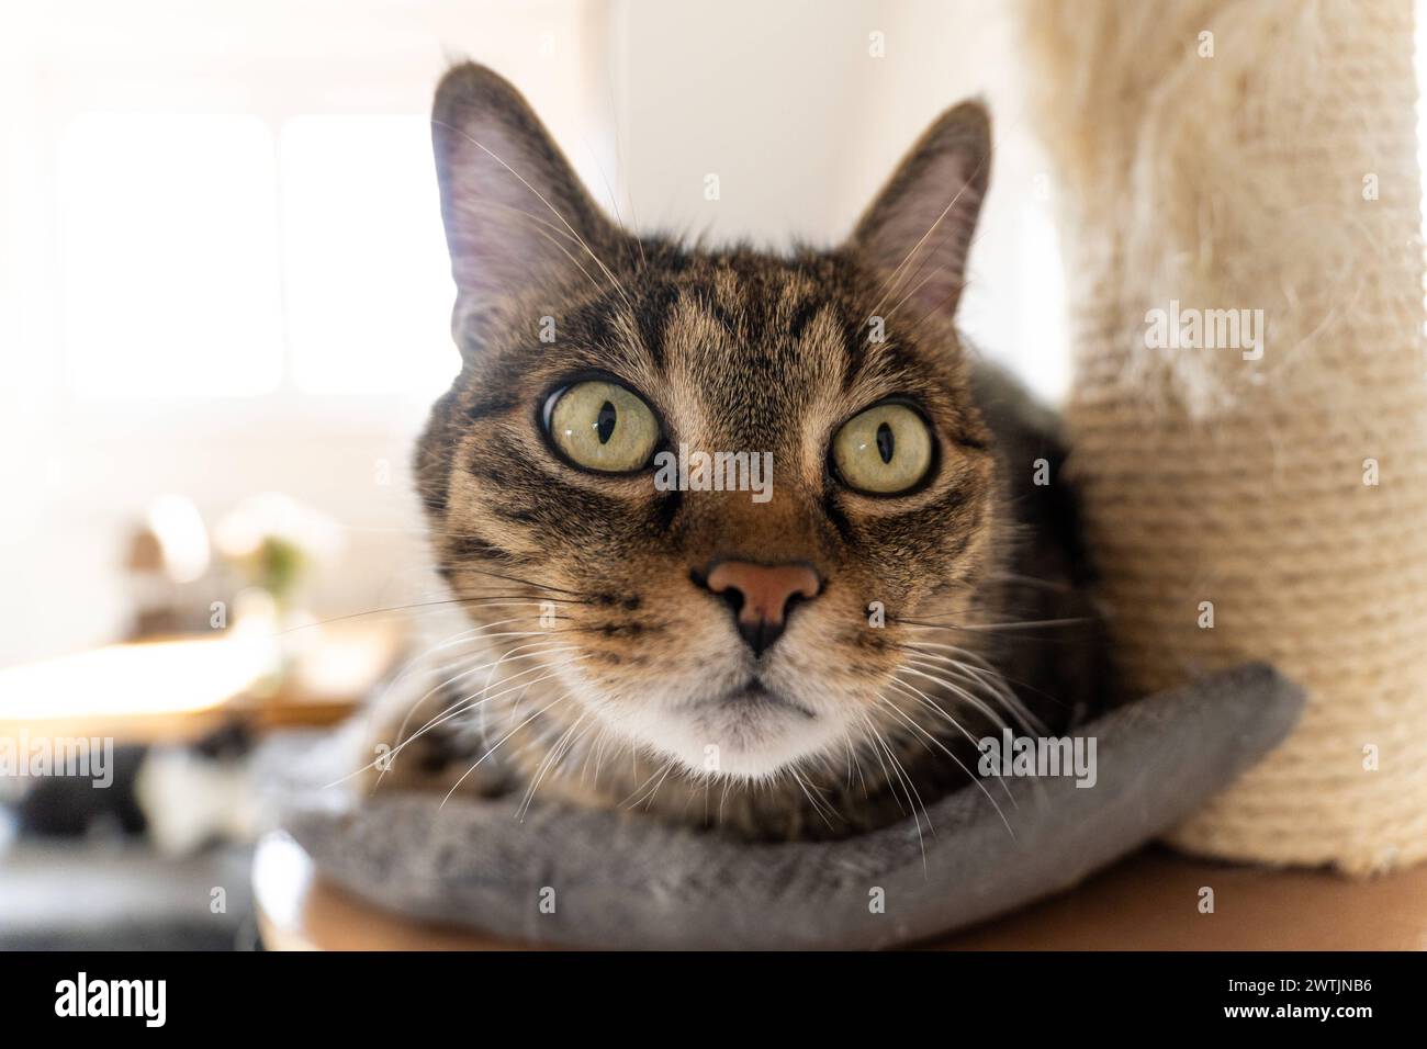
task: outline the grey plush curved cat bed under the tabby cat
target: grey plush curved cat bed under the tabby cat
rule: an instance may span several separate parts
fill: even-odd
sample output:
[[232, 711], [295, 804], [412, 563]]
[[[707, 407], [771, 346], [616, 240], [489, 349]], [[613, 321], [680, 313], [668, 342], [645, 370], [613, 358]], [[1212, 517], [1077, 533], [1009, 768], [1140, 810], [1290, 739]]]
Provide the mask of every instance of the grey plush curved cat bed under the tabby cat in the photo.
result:
[[929, 806], [930, 828], [909, 816], [835, 842], [752, 845], [538, 802], [519, 819], [518, 795], [441, 808], [298, 789], [284, 822], [323, 873], [380, 906], [531, 943], [882, 948], [1075, 885], [1226, 788], [1301, 706], [1296, 685], [1244, 665], [1085, 725], [1090, 788], [989, 779], [1000, 812], [972, 785]]

